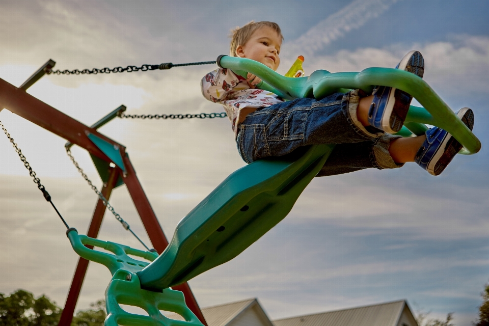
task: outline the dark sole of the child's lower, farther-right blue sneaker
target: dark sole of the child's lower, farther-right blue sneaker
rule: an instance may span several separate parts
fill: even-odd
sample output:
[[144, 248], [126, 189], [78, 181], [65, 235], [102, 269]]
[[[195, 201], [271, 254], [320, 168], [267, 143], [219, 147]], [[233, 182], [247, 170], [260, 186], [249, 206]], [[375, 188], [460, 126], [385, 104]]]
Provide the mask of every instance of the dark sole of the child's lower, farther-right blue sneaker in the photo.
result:
[[[457, 117], [472, 130], [474, 127], [474, 112], [470, 108], [461, 108], [457, 113]], [[437, 150], [436, 155], [431, 158], [426, 167], [426, 171], [428, 171], [429, 174], [440, 175], [453, 157], [455, 157], [455, 155], [462, 149], [462, 145], [447, 132], [440, 144], [440, 148], [443, 148], [444, 150]]]

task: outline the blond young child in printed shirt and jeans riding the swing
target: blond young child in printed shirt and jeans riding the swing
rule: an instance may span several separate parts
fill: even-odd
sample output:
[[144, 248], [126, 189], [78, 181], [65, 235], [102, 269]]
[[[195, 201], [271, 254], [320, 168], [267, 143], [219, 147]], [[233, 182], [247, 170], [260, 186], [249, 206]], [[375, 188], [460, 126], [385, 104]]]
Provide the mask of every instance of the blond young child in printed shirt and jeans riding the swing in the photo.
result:
[[[233, 31], [230, 53], [277, 70], [282, 40], [278, 24], [252, 21]], [[423, 57], [411, 51], [396, 68], [422, 77]], [[208, 73], [201, 82], [204, 97], [224, 105], [239, 154], [247, 163], [285, 155], [300, 146], [337, 144], [317, 176], [366, 168], [393, 169], [412, 161], [439, 175], [462, 147], [438, 127], [418, 137], [393, 135], [401, 129], [412, 99], [400, 90], [380, 86], [372, 94], [354, 90], [321, 100], [284, 101], [256, 89], [259, 82], [261, 79], [251, 73], [245, 79], [224, 68]], [[470, 108], [462, 108], [457, 116], [472, 130]]]

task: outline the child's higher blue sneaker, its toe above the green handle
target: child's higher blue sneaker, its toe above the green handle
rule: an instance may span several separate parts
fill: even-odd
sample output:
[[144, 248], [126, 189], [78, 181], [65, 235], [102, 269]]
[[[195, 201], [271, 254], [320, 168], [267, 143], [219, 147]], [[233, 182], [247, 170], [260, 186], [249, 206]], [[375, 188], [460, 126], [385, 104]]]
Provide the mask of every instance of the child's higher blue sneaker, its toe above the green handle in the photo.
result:
[[[423, 78], [423, 56], [419, 51], [411, 51], [402, 58], [396, 69], [409, 71]], [[372, 95], [368, 123], [387, 133], [396, 133], [401, 130], [413, 97], [406, 92], [387, 86], [375, 87]]]

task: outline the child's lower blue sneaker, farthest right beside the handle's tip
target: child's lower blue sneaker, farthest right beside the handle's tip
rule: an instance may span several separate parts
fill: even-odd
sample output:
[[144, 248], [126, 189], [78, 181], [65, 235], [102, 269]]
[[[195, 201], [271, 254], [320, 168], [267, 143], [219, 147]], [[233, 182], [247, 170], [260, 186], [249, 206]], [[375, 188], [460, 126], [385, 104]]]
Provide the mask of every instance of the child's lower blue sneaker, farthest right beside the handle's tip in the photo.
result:
[[[468, 107], [461, 108], [457, 117], [469, 127], [474, 127], [474, 113]], [[426, 140], [416, 153], [415, 162], [432, 175], [440, 175], [462, 145], [446, 130], [433, 127], [426, 130]]]

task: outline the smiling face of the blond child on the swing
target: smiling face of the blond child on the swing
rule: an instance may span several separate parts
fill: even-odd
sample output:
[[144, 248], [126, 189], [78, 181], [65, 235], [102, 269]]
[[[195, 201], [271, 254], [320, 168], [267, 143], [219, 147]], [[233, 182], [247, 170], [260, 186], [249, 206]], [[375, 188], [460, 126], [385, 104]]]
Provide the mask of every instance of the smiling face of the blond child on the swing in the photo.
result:
[[256, 30], [248, 42], [236, 47], [236, 56], [258, 61], [270, 69], [277, 70], [280, 65], [282, 37], [274, 29], [263, 26]]

